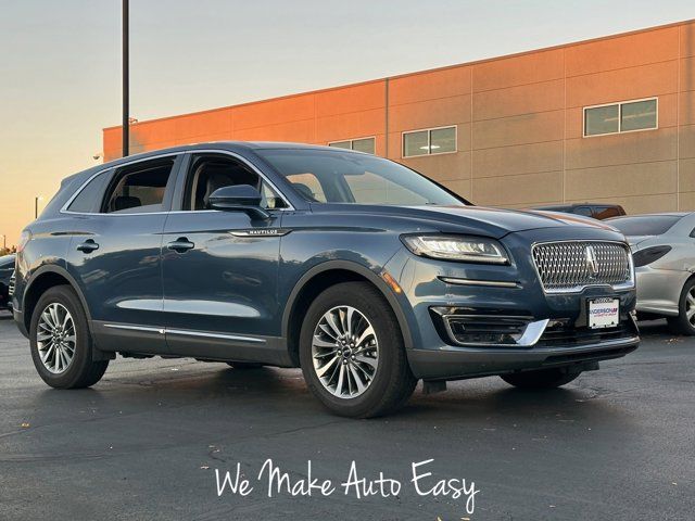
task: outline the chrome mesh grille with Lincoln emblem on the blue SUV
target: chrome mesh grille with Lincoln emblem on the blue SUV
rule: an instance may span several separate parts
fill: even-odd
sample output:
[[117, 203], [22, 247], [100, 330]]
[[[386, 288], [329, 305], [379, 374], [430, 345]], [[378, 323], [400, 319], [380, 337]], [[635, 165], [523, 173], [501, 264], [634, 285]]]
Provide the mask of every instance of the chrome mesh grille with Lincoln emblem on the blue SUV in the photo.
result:
[[586, 285], [632, 283], [628, 246], [618, 242], [568, 241], [536, 244], [533, 262], [545, 291], [576, 291]]

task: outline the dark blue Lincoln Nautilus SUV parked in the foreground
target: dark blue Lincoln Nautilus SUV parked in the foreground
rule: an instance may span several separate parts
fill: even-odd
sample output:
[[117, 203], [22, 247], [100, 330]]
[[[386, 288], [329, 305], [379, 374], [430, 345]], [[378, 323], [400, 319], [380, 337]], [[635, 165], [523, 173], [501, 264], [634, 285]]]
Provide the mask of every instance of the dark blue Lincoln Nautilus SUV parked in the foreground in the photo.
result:
[[160, 150], [65, 179], [23, 232], [13, 312], [40, 377], [116, 353], [301, 367], [336, 414], [418, 380], [556, 387], [639, 343], [624, 238], [483, 208], [397, 163], [287, 143]]

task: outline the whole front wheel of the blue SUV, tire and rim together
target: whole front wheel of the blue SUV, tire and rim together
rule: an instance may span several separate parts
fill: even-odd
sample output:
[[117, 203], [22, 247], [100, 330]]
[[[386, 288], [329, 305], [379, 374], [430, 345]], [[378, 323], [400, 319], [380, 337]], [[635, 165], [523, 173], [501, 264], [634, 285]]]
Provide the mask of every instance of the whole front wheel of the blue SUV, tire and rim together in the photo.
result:
[[[352, 331], [363, 341], [351, 346], [348, 336], [341, 344], [340, 334], [327, 321], [329, 315], [333, 327], [338, 325], [334, 320], [341, 320], [339, 329]], [[349, 329], [344, 327], [348, 317]], [[374, 334], [367, 331], [368, 326]], [[338, 416], [374, 418], [393, 412], [407, 402], [417, 384], [393, 310], [366, 282], [336, 284], [316, 297], [302, 325], [300, 363], [308, 389]]]

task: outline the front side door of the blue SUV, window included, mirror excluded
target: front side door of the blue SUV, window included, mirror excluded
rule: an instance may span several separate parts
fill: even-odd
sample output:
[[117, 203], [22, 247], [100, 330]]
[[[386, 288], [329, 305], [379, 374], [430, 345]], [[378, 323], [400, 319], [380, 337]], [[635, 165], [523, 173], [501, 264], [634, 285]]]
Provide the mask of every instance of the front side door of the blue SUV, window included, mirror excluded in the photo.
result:
[[[260, 189], [270, 218], [207, 209], [208, 196], [230, 185]], [[182, 187], [180, 211], [169, 215], [163, 241], [163, 310], [172, 353], [273, 361], [280, 335], [285, 203], [249, 164], [225, 154], [190, 154]]]

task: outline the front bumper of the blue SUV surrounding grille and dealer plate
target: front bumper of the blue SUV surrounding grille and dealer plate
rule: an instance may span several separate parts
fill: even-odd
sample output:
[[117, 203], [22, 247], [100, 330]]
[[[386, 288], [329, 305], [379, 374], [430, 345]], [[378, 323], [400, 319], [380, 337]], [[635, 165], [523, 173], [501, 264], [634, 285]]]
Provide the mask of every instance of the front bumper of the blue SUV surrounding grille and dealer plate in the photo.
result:
[[[609, 232], [601, 237], [601, 232], [582, 229], [572, 238], [555, 229], [510, 233], [501, 240], [513, 258], [509, 266], [396, 254], [386, 268], [397, 276], [401, 302], [409, 315], [413, 342], [407, 356], [413, 373], [425, 380], [455, 380], [558, 366], [589, 368], [634, 351], [640, 343], [632, 313], [634, 288], [587, 285], [576, 292], [544, 291], [531, 244], [567, 239], [618, 240]], [[599, 297], [619, 300], [618, 327], [586, 327], [587, 302]], [[483, 340], [473, 345], [457, 341], [456, 332], [447, 328], [447, 316], [488, 317], [493, 325], [520, 329], [497, 338], [482, 334]]]

